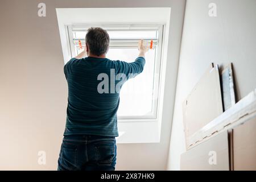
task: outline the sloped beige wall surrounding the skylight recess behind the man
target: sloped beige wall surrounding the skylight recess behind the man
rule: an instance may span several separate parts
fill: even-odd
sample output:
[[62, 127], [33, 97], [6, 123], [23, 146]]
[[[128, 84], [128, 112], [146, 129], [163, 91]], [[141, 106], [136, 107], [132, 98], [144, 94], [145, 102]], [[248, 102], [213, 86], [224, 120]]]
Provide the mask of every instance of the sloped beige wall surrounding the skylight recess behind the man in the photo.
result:
[[[46, 3], [46, 17], [37, 15], [39, 2]], [[160, 143], [117, 146], [117, 169], [166, 169], [185, 0], [1, 0], [0, 169], [57, 167], [67, 107], [55, 10], [62, 7], [171, 7]], [[47, 154], [44, 166], [40, 150]]]

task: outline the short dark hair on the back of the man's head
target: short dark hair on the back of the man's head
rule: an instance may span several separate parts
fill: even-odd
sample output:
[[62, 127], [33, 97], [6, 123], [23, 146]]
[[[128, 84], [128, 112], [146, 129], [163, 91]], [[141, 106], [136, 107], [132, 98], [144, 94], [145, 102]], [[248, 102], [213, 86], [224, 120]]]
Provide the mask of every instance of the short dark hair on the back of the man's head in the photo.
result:
[[108, 52], [109, 34], [100, 27], [90, 27], [85, 36], [85, 43], [91, 54], [100, 56]]

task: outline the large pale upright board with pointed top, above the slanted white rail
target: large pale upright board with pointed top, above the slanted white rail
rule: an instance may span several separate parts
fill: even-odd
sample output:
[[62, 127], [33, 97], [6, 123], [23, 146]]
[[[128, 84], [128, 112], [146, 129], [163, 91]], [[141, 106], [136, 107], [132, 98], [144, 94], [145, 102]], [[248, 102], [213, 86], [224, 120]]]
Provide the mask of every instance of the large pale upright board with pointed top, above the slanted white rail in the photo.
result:
[[211, 64], [183, 103], [186, 139], [221, 113], [223, 109], [218, 65], [214, 67]]

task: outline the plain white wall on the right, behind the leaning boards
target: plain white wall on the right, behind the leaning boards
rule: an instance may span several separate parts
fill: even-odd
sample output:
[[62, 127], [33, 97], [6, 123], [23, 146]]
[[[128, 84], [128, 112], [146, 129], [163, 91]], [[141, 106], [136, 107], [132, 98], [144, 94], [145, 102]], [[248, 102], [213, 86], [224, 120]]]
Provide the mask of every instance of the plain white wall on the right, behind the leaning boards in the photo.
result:
[[[217, 17], [209, 17], [209, 3], [216, 3]], [[255, 17], [255, 0], [187, 1], [167, 169], [180, 169], [185, 151], [181, 103], [210, 63], [233, 63], [238, 100], [255, 89]]]

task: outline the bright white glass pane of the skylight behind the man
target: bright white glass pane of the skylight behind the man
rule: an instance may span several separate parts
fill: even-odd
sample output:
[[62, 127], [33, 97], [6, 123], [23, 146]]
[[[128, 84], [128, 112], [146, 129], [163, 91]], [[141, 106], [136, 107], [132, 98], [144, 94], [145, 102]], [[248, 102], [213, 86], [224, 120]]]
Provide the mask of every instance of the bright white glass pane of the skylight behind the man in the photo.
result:
[[[138, 49], [109, 49], [107, 57], [111, 60], [133, 62]], [[146, 64], [141, 74], [128, 80], [120, 92], [118, 115], [151, 115], [154, 86], [155, 50], [146, 53]]]

